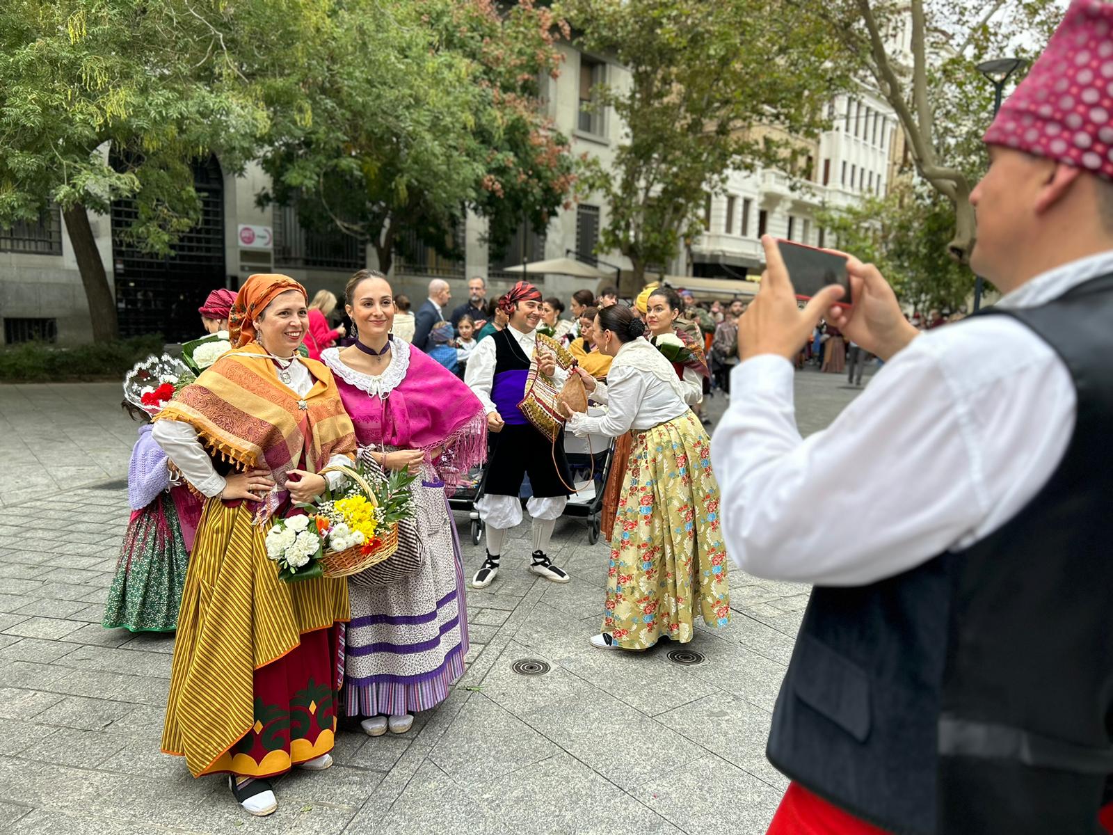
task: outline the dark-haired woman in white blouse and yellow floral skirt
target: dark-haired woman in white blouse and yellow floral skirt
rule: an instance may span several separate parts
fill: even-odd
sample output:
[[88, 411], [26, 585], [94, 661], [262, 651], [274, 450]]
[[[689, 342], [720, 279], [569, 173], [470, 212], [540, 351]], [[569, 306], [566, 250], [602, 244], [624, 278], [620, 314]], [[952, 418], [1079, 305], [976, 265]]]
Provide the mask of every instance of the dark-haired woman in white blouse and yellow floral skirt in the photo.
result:
[[693, 637], [695, 620], [730, 618], [727, 551], [719, 527], [719, 487], [711, 441], [684, 402], [672, 364], [642, 335], [646, 325], [614, 305], [595, 318], [599, 348], [614, 357], [605, 384], [581, 373], [607, 414], [574, 413], [577, 435], [630, 432], [631, 450], [611, 539], [600, 648], [647, 649], [666, 637]]

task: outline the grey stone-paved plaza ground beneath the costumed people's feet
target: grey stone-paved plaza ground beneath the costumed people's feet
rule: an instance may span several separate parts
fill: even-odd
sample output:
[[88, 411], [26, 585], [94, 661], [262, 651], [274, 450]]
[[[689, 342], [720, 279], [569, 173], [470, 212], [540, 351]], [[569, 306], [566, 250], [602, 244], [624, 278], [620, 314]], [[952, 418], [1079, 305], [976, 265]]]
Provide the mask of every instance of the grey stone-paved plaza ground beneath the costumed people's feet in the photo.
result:
[[[700, 627], [696, 666], [668, 641], [593, 649], [608, 546], [578, 519], [551, 550], [568, 584], [526, 572], [526, 523], [499, 579], [469, 589], [469, 669], [408, 734], [342, 729], [336, 765], [278, 780], [267, 818], [220, 778], [193, 779], [158, 750], [173, 637], [100, 626], [136, 436], [120, 394], [0, 386], [0, 833], [765, 832], [786, 785], [765, 739], [808, 589], [736, 571], [731, 623]], [[855, 394], [841, 375], [797, 374], [801, 431]], [[483, 548], [463, 539], [470, 577]], [[551, 669], [522, 676], [521, 659]]]

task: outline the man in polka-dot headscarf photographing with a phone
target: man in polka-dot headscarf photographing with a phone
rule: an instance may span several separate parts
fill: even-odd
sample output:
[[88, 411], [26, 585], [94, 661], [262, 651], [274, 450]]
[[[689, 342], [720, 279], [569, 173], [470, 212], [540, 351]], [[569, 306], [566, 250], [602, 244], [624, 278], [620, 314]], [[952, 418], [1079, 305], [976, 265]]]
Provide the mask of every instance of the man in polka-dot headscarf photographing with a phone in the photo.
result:
[[[770, 833], [1102, 832], [1111, 111], [1113, 4], [1074, 0], [985, 137], [986, 314], [922, 334], [854, 258], [853, 307], [829, 287], [801, 314], [764, 239], [711, 458], [739, 567], [815, 584], [769, 736], [792, 780]], [[824, 315], [885, 367], [804, 440], [791, 360]]]

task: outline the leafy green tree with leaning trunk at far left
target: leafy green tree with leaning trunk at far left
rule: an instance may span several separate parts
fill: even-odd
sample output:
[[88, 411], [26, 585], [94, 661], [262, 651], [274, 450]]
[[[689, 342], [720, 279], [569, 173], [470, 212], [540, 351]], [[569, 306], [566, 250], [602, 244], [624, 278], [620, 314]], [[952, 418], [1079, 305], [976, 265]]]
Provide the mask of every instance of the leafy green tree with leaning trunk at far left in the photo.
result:
[[290, 60], [280, 45], [307, 40], [313, 7], [0, 3], [0, 225], [60, 206], [98, 342], [116, 336], [116, 306], [88, 213], [131, 199], [135, 243], [170, 252], [199, 215], [191, 160], [217, 153], [235, 170], [254, 155], [268, 122], [258, 80]]

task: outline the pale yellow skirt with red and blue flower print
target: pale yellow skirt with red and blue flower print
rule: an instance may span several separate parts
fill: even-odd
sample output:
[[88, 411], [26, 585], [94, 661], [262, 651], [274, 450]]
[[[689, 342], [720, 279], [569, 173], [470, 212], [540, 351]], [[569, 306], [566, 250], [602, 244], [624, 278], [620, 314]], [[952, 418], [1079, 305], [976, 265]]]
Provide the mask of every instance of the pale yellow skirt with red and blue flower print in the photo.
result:
[[623, 649], [646, 649], [662, 635], [686, 644], [696, 616], [708, 626], [730, 618], [711, 441], [691, 410], [631, 435], [603, 631]]

